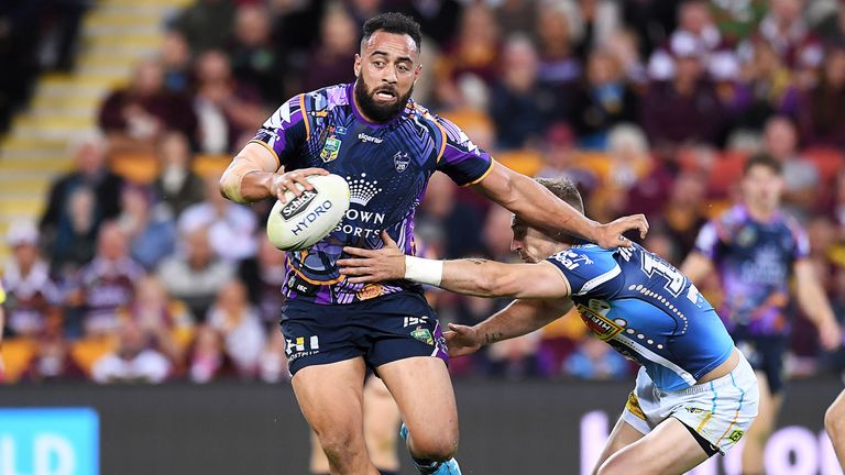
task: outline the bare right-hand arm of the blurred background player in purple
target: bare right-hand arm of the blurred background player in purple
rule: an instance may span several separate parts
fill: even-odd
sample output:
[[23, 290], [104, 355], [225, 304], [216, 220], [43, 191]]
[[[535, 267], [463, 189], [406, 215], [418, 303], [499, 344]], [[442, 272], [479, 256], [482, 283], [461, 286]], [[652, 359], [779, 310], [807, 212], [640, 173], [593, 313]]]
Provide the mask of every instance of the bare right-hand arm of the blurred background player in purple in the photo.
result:
[[819, 330], [819, 340], [825, 350], [832, 351], [842, 344], [842, 331], [831, 308], [831, 302], [815, 276], [815, 269], [810, 261], [795, 261], [795, 291], [798, 303], [804, 314]]

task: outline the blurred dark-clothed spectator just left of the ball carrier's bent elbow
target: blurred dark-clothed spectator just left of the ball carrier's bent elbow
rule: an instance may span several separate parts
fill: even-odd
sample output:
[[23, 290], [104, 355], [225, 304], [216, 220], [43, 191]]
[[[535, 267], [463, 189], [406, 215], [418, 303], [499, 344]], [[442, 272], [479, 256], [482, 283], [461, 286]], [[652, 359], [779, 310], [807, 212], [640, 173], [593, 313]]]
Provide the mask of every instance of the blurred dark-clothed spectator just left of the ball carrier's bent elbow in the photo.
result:
[[202, 201], [205, 185], [190, 168], [193, 155], [184, 134], [164, 133], [158, 141], [157, 155], [160, 173], [153, 181], [153, 192], [178, 218], [185, 208]]

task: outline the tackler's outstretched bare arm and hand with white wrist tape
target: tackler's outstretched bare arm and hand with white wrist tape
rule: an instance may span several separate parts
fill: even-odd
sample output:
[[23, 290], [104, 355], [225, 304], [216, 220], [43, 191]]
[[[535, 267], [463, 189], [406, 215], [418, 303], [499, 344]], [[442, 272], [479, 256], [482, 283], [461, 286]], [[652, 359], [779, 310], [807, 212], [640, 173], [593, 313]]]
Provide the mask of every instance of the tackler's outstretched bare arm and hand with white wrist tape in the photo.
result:
[[384, 247], [344, 247], [354, 258], [338, 261], [353, 284], [409, 279], [478, 297], [559, 298], [569, 296], [569, 281], [553, 264], [503, 264], [480, 258], [434, 261], [406, 256], [382, 232]]

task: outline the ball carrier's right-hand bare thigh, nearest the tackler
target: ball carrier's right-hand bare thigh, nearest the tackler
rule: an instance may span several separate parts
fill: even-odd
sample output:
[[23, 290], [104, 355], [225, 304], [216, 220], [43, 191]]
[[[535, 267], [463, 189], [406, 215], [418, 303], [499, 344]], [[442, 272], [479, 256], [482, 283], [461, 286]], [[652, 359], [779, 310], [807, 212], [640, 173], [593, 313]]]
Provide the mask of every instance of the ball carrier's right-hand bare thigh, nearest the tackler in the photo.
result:
[[458, 408], [446, 363], [415, 356], [377, 367], [399, 407], [416, 456], [440, 459], [458, 448]]

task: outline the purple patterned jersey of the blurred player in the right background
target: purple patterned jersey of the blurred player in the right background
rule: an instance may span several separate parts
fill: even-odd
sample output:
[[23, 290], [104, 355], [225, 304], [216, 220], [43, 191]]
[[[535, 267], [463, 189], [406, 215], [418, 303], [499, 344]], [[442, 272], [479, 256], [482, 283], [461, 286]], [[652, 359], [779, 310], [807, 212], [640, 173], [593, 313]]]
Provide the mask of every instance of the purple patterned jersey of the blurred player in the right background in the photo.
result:
[[701, 229], [695, 248], [718, 269], [724, 289], [718, 314], [728, 330], [789, 332], [792, 265], [810, 254], [806, 234], [793, 219], [778, 212], [769, 222], [757, 222], [744, 206], [735, 206]]

